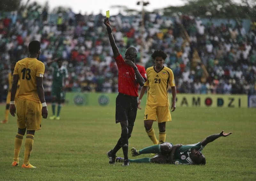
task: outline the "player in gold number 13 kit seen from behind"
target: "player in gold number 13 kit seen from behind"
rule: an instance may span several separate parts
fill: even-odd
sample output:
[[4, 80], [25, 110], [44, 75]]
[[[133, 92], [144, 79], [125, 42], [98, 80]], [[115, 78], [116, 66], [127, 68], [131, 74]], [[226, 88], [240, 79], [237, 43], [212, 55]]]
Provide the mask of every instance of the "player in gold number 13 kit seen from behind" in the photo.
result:
[[[25, 151], [22, 168], [36, 168], [29, 163], [29, 157], [33, 148], [35, 130], [41, 129], [41, 115], [44, 119], [48, 116], [48, 110], [44, 99], [44, 63], [38, 60], [41, 53], [39, 41], [31, 41], [28, 45], [29, 57], [16, 63], [13, 72], [10, 113], [15, 116], [16, 107], [14, 97], [17, 91], [17, 83], [20, 80], [20, 91], [17, 101], [17, 125], [18, 133], [14, 141], [14, 157], [12, 166], [18, 166], [19, 153], [23, 136], [26, 133]], [[41, 104], [42, 103], [42, 104]]]

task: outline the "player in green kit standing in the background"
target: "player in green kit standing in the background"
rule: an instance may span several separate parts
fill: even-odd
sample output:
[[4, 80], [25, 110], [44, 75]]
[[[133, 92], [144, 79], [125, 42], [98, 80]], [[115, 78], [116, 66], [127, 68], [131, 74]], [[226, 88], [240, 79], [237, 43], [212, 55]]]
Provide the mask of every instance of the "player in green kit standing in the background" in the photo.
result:
[[[53, 69], [52, 77], [52, 116], [50, 119], [60, 119], [61, 104], [65, 102], [65, 82], [68, 78], [68, 70], [63, 63], [62, 58], [56, 58], [47, 65]], [[58, 103], [56, 114], [56, 102]]]

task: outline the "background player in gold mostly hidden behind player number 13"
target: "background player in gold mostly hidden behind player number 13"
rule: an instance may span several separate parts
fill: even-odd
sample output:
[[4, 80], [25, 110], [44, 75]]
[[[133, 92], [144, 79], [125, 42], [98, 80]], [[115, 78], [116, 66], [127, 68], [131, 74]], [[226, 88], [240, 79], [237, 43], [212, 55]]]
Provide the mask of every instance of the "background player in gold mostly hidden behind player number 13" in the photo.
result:
[[[11, 89], [12, 89], [12, 74], [14, 70], [14, 63], [11, 63], [11, 72], [8, 73], [8, 93], [6, 97], [6, 107], [5, 107], [5, 115], [4, 115], [4, 120], [1, 123], [7, 123], [8, 122], [8, 115], [9, 115], [9, 108], [10, 108], [10, 101], [11, 101]], [[17, 95], [19, 92], [19, 87], [20, 87], [20, 81], [18, 82], [18, 87], [17, 87], [17, 93], [15, 95], [15, 101], [18, 100]]]

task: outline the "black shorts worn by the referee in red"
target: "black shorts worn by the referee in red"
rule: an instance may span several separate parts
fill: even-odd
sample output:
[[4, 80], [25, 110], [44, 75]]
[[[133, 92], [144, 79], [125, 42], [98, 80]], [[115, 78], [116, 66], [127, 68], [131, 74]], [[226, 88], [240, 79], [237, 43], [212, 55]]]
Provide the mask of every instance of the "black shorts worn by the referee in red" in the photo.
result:
[[116, 97], [116, 123], [128, 120], [128, 124], [134, 126], [137, 109], [137, 97], [119, 93]]

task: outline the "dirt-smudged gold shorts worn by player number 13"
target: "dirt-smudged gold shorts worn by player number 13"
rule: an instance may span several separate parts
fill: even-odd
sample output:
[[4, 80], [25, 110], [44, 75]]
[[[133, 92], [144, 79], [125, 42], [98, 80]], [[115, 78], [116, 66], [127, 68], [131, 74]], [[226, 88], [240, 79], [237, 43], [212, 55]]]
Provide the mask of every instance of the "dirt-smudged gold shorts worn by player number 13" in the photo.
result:
[[28, 99], [18, 99], [16, 105], [17, 125], [20, 129], [41, 129], [42, 104]]

